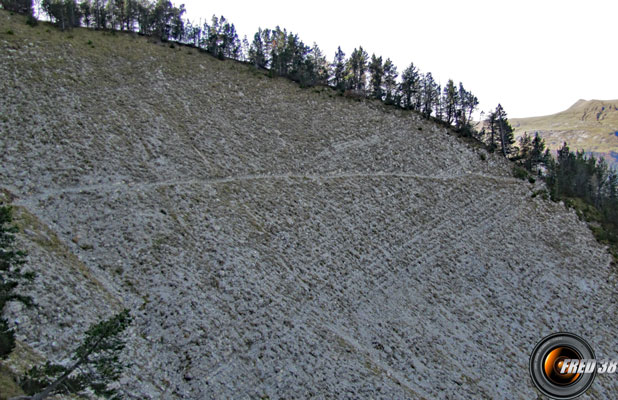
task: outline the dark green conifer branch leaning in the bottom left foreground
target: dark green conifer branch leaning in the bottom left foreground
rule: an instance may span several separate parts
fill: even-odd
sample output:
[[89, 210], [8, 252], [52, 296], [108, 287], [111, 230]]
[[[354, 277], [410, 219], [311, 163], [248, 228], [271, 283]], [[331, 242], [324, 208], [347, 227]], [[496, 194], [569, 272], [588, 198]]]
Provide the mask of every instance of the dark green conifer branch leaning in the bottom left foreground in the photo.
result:
[[119, 354], [124, 349], [120, 334], [131, 323], [128, 310], [110, 319], [92, 325], [86, 337], [72, 355], [69, 366], [47, 363], [28, 371], [20, 386], [32, 399], [43, 399], [53, 394], [81, 393], [91, 389], [96, 395], [120, 399], [109, 384], [118, 379], [124, 369]]

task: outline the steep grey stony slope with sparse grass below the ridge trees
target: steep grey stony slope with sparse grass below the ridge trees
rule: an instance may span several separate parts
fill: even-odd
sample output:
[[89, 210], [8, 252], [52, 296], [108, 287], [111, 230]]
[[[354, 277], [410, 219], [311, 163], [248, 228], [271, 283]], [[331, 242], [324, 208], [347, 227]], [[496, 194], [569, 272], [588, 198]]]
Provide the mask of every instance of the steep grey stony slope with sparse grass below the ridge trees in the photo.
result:
[[37, 357], [120, 307], [128, 398], [529, 399], [546, 334], [616, 356], [605, 249], [499, 157], [192, 49], [0, 18], [1, 186], [39, 272], [10, 318]]

